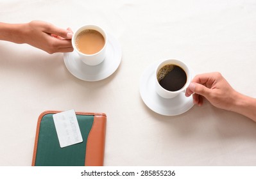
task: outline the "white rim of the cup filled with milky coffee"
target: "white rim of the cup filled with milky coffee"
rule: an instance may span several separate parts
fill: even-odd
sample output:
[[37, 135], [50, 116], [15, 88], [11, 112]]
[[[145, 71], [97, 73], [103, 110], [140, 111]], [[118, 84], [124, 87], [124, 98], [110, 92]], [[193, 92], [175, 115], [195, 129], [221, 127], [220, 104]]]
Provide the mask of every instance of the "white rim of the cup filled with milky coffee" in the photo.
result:
[[[95, 30], [95, 31], [98, 31], [98, 32], [103, 36], [103, 38], [104, 38], [104, 40], [105, 40], [105, 44], [104, 44], [104, 46], [101, 48], [101, 50], [98, 51], [98, 52], [96, 52], [96, 53], [94, 53], [94, 54], [84, 54], [84, 53], [78, 51], [78, 49], [77, 49], [77, 47], [76, 47], [76, 36], [78, 36], [78, 34], [79, 34], [81, 31], [85, 30], [85, 27], [88, 27], [87, 29], [93, 29], [93, 30]], [[90, 28], [90, 27], [91, 27], [91, 28]], [[96, 29], [94, 29], [94, 28], [96, 28]], [[103, 33], [102, 33], [101, 31], [99, 31], [98, 29], [100, 29]], [[76, 29], [76, 31], [74, 31], [74, 33], [73, 33], [73, 38], [72, 38], [72, 40], [71, 40], [71, 43], [72, 43], [73, 49], [74, 49], [76, 52], [78, 52], [78, 54], [80, 54], [81, 56], [96, 56], [97, 54], [101, 53], [101, 52], [106, 48], [106, 46], [107, 46], [107, 41], [108, 41], [108, 37], [107, 37], [107, 33], [106, 33], [105, 29], [103, 29], [102, 27], [100, 27], [100, 26], [98, 26], [98, 25], [95, 25], [95, 24], [85, 24], [85, 25], [83, 25], [83, 26], [78, 27], [78, 29]]]

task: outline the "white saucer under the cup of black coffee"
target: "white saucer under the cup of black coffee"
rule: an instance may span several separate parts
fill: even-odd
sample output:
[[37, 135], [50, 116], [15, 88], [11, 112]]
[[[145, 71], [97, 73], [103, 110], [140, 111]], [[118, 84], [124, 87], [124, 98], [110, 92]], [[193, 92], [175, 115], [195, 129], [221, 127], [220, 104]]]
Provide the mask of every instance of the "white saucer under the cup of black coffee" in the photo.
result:
[[140, 82], [140, 93], [143, 102], [155, 113], [165, 116], [176, 116], [185, 113], [193, 104], [191, 97], [185, 97], [185, 93], [181, 93], [175, 98], [167, 99], [160, 97], [155, 91], [154, 72], [157, 63], [149, 65], [143, 72]]

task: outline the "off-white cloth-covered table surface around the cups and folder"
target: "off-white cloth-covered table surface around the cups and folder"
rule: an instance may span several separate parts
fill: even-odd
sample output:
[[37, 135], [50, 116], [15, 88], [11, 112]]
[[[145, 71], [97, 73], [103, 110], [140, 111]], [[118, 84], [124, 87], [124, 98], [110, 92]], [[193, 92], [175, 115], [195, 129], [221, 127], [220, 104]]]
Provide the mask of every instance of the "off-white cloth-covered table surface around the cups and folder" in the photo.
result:
[[139, 93], [150, 64], [175, 58], [195, 74], [221, 72], [237, 91], [256, 97], [254, 0], [0, 2], [0, 22], [31, 20], [73, 30], [98, 24], [121, 44], [122, 60], [107, 79], [81, 81], [62, 53], [0, 42], [1, 166], [30, 166], [39, 114], [68, 109], [107, 114], [105, 166], [256, 165], [252, 120], [207, 101], [162, 116]]

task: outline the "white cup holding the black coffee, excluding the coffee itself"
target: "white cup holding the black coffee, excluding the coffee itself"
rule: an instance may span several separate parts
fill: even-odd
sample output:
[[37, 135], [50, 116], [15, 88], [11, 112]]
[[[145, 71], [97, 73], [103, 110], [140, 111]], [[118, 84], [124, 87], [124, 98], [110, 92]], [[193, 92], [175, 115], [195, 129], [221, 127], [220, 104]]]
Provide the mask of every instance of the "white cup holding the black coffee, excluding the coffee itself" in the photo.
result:
[[[182, 68], [185, 72], [185, 74], [187, 75], [187, 81], [185, 82], [184, 86], [181, 89], [178, 89], [177, 91], [169, 91], [167, 89], [164, 89], [158, 82], [158, 78], [157, 78], [157, 74], [158, 71], [166, 66], [166, 65], [176, 65], [176, 66], [180, 66], [180, 68]], [[185, 92], [185, 89], [187, 89], [187, 87], [189, 87], [189, 84], [191, 82], [191, 71], [189, 70], [189, 67], [187, 65], [185, 65], [185, 63], [183, 63], [180, 60], [177, 59], [166, 59], [164, 61], [161, 61], [158, 65], [157, 68], [155, 68], [155, 89], [158, 93], [158, 95], [160, 95], [160, 97], [163, 98], [174, 98], [177, 95], [179, 95], [182, 92]]]

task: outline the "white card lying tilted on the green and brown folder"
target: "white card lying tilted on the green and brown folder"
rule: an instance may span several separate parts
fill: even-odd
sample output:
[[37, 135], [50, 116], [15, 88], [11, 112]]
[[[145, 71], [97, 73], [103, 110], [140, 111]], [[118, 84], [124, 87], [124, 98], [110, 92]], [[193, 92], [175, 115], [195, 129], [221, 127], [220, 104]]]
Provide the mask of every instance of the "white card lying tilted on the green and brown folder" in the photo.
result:
[[53, 114], [53, 121], [61, 148], [83, 142], [74, 109]]

